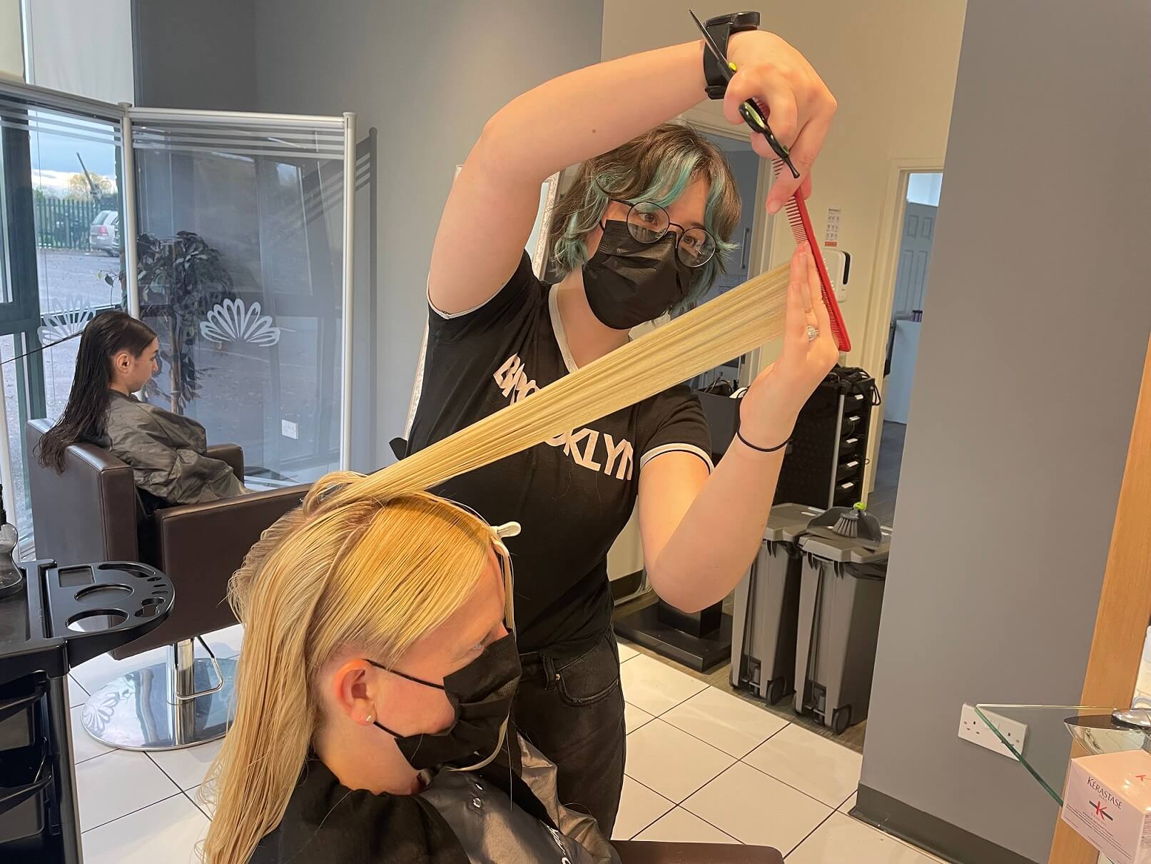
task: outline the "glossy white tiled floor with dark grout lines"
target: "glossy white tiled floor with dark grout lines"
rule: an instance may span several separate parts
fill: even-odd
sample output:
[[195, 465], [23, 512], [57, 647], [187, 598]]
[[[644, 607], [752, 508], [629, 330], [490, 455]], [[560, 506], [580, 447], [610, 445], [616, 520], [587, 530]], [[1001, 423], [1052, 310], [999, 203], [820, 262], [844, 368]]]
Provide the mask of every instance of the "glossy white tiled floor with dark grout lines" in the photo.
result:
[[[229, 628], [208, 644], [229, 657], [242, 638], [241, 628]], [[151, 652], [98, 658], [69, 682], [86, 864], [185, 864], [207, 832], [209, 813], [196, 795], [218, 745], [108, 750], [78, 722], [84, 688], [159, 659]], [[846, 814], [855, 803], [857, 753], [626, 645], [620, 660], [627, 778], [616, 839], [761, 843], [796, 864], [937, 861]]]

